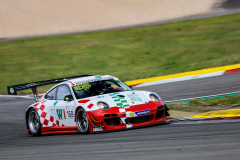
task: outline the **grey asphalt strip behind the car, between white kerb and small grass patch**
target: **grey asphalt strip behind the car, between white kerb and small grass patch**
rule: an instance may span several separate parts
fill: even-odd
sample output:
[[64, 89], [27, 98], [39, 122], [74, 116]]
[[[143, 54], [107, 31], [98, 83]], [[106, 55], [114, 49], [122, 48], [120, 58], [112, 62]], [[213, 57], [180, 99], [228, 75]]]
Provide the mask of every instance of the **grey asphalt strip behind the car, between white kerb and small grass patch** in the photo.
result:
[[240, 73], [136, 87], [136, 89], [156, 92], [163, 101], [237, 92], [240, 91]]

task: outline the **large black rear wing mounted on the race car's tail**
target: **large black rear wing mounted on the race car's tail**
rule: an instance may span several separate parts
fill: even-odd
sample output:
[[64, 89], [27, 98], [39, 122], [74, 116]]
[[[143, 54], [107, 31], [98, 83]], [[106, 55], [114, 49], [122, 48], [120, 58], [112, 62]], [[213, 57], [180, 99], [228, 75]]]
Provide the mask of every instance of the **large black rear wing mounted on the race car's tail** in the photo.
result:
[[[73, 77], [65, 77], [65, 78], [51, 79], [51, 80], [46, 80], [46, 81], [39, 81], [39, 82], [7, 86], [7, 90], [8, 90], [8, 94], [17, 95], [17, 91], [31, 88], [34, 96], [35, 95], [38, 96], [37, 95], [37, 87], [39, 87], [39, 86], [60, 83], [60, 82], [64, 82], [64, 81], [67, 81], [70, 79], [80, 78], [80, 77], [88, 77], [88, 76], [92, 76], [92, 75], [85, 74], [85, 75], [79, 75], [79, 76], [73, 76]], [[36, 97], [35, 97], [35, 99], [36, 99]]]

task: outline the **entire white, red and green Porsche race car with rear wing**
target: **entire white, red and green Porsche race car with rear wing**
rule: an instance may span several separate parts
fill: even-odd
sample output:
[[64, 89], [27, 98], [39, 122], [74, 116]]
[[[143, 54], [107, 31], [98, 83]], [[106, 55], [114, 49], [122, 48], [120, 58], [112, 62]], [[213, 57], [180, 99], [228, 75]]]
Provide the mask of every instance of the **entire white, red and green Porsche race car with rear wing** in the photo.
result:
[[[37, 87], [58, 83], [41, 98]], [[36, 103], [25, 114], [27, 131], [91, 133], [132, 128], [166, 121], [168, 108], [153, 92], [133, 90], [109, 75], [81, 75], [8, 86], [8, 94], [31, 88]]]

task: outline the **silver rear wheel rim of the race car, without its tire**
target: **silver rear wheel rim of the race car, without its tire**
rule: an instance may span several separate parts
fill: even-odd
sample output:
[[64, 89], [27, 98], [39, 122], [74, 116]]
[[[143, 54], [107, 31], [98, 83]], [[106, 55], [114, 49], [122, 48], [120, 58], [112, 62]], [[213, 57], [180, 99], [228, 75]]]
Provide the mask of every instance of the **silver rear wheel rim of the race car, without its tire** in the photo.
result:
[[35, 111], [31, 111], [28, 119], [30, 131], [36, 133], [40, 126], [38, 114]]

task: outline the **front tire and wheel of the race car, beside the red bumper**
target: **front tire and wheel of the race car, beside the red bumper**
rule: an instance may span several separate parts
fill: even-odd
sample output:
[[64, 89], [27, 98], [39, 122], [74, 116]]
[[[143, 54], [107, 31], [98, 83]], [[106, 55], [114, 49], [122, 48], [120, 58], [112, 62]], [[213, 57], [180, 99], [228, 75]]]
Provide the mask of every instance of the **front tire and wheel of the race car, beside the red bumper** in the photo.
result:
[[80, 133], [89, 133], [89, 121], [87, 113], [83, 108], [79, 108], [76, 112], [76, 125]]

